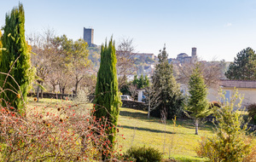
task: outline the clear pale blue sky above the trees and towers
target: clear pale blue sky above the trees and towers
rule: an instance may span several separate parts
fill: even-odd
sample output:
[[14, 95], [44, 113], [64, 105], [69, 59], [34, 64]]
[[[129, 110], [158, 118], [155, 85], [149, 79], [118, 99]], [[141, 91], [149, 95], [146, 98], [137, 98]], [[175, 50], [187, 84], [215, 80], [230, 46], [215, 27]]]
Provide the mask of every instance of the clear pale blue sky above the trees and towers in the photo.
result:
[[132, 38], [136, 52], [158, 55], [166, 43], [169, 58], [196, 47], [206, 61], [234, 61], [241, 49], [256, 49], [255, 0], [0, 0], [0, 26], [19, 2], [26, 35], [54, 29], [77, 40], [92, 27], [97, 45]]

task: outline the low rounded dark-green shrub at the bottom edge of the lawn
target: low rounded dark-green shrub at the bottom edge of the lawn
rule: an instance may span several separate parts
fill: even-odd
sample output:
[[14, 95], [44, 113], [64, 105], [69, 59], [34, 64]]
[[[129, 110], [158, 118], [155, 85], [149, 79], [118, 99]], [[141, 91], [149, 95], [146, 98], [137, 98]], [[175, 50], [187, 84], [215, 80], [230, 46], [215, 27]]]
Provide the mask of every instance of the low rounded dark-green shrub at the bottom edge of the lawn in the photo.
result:
[[131, 147], [125, 153], [125, 157], [132, 157], [137, 162], [156, 162], [163, 159], [163, 153], [160, 153], [158, 149], [146, 148], [145, 146], [138, 148]]

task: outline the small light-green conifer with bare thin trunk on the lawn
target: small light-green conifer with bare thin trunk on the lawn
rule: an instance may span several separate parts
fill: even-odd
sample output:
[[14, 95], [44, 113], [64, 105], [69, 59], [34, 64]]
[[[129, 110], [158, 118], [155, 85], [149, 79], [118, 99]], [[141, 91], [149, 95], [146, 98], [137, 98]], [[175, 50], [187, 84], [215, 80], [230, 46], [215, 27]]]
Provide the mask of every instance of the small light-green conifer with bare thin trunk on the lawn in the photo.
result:
[[189, 78], [189, 103], [187, 110], [192, 113], [191, 117], [195, 119], [195, 135], [198, 135], [199, 119], [209, 114], [209, 105], [207, 101], [207, 85], [197, 63], [193, 73]]

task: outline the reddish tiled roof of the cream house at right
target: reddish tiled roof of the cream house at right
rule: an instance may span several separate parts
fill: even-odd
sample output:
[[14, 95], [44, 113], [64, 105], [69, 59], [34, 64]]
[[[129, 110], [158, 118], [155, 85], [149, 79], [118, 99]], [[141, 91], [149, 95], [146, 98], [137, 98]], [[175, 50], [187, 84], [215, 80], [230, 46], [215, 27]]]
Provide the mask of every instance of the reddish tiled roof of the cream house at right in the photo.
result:
[[220, 80], [223, 87], [256, 89], [256, 80]]

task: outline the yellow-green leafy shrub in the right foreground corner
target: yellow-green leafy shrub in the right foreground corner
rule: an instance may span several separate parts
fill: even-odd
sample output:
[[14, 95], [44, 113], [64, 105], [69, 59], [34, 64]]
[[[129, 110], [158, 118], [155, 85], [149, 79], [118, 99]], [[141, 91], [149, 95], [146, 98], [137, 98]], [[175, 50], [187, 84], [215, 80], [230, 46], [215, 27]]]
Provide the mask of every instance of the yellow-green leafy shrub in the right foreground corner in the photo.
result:
[[[247, 126], [241, 128], [243, 119], [236, 110], [241, 107], [242, 97], [237, 90], [230, 101], [226, 101], [222, 94], [224, 105], [215, 108], [215, 135], [202, 140], [198, 153], [211, 161], [242, 161], [251, 153], [252, 139], [246, 136]], [[236, 105], [237, 99], [240, 99]], [[200, 155], [200, 154], [199, 154]]]

